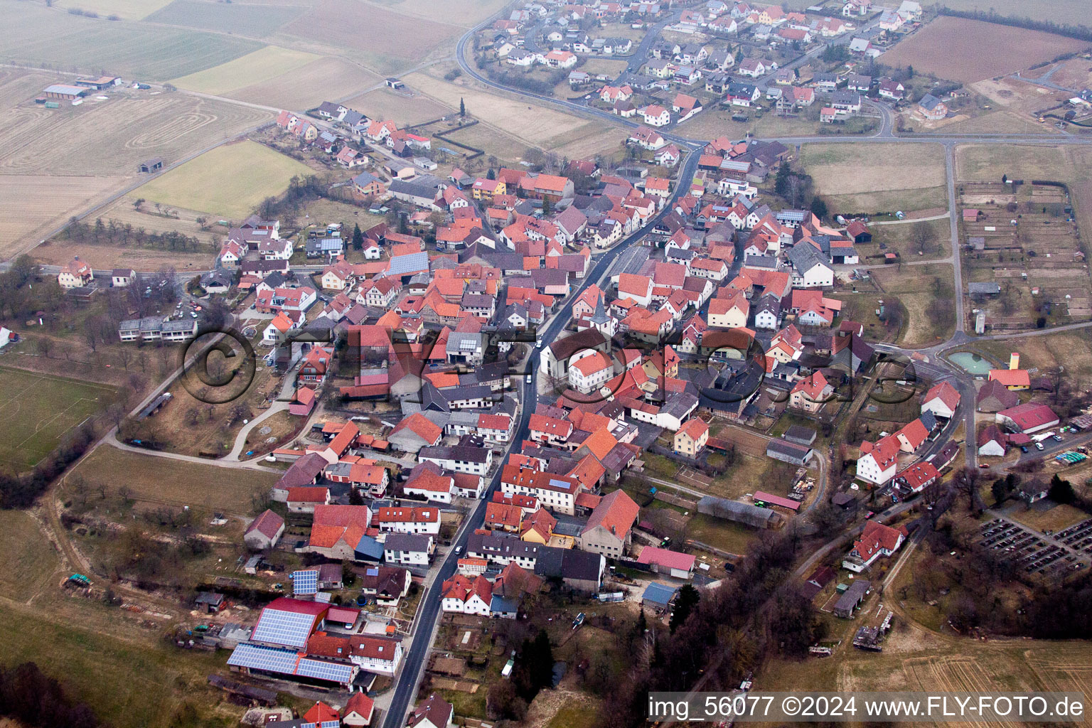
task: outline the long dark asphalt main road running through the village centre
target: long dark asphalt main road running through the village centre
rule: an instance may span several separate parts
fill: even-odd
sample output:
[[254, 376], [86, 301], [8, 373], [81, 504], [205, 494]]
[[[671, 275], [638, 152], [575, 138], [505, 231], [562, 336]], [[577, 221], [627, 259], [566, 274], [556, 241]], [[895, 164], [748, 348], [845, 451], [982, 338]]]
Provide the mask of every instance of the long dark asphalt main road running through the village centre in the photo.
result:
[[[557, 315], [554, 317], [543, 331], [538, 332], [538, 341], [544, 343], [555, 341], [565, 329], [566, 324], [568, 324], [572, 319], [573, 301], [575, 301], [590, 285], [606, 277], [610, 271], [610, 266], [618, 260], [618, 256], [648, 235], [649, 228], [654, 226], [667, 213], [669, 213], [675, 202], [677, 202], [684, 194], [689, 193], [690, 186], [686, 183], [685, 180], [690, 179], [698, 169], [698, 156], [699, 155], [696, 151], [691, 151], [685, 157], [679, 169], [679, 181], [675, 187], [674, 194], [664, 207], [649, 220], [648, 225], [622, 239], [617, 246], [598, 256], [598, 260], [595, 261], [592, 270], [582, 278], [580, 286], [578, 286], [566, 299], [566, 302], [558, 310]], [[502, 458], [510, 452], [519, 449], [520, 444], [530, 433], [529, 423], [531, 421], [531, 415], [534, 414], [535, 405], [538, 399], [535, 380], [538, 373], [539, 353], [541, 349], [538, 348], [532, 349], [527, 359], [527, 370], [526, 372], [520, 374], [520, 382], [518, 386], [520, 387], [520, 401], [522, 403], [522, 408], [512, 441], [501, 455], [501, 462]], [[489, 487], [486, 489], [485, 494], [476, 502], [474, 509], [466, 514], [465, 523], [476, 525], [484, 521], [486, 503], [492, 498], [492, 493], [500, 487], [500, 474], [501, 468], [498, 466], [497, 472], [489, 481]], [[449, 549], [444, 557], [442, 557], [443, 561], [440, 563], [439, 571], [431, 585], [426, 589], [425, 595], [422, 597], [420, 606], [417, 608], [417, 628], [411, 637], [408, 649], [405, 651], [402, 672], [399, 675], [399, 679], [394, 685], [394, 696], [391, 699], [387, 718], [383, 720], [383, 728], [403, 728], [405, 725], [405, 717], [410, 709], [410, 702], [417, 692], [417, 685], [420, 682], [422, 669], [425, 666], [425, 658], [428, 656], [428, 651], [431, 647], [432, 634], [436, 631], [436, 625], [440, 617], [441, 584], [444, 580], [451, 578], [451, 576], [455, 573], [456, 562], [459, 561], [459, 553], [456, 552], [465, 551], [466, 542], [471, 533], [473, 533], [473, 528], [464, 526], [461, 529], [460, 535], [452, 545], [452, 548]]]

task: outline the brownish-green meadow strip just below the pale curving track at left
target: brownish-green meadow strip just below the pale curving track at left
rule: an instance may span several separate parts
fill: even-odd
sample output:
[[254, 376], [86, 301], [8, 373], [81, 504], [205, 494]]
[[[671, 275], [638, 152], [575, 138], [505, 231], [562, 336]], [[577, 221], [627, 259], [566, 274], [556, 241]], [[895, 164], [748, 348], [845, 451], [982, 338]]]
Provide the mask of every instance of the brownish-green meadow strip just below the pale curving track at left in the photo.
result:
[[[190, 505], [225, 513], [251, 511], [251, 496], [269, 489], [275, 473], [246, 468], [226, 469], [215, 465], [144, 455], [109, 445], [95, 450], [72, 470], [96, 490], [102, 484], [108, 493], [127, 487], [138, 501], [165, 505]], [[124, 473], [124, 479], [118, 474]], [[71, 474], [68, 484], [71, 482]]]

